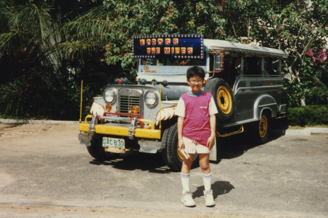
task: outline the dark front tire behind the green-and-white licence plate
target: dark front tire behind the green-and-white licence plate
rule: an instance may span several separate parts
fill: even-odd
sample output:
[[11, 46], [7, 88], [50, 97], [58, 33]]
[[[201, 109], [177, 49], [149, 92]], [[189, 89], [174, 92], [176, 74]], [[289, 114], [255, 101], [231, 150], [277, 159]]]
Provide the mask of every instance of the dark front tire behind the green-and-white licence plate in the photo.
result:
[[89, 154], [95, 158], [97, 161], [108, 161], [116, 159], [119, 154], [118, 153], [112, 153], [112, 152], [106, 152], [105, 148], [102, 146], [102, 140], [101, 137], [95, 137], [93, 136], [90, 141], [90, 146], [87, 146], [87, 150]]

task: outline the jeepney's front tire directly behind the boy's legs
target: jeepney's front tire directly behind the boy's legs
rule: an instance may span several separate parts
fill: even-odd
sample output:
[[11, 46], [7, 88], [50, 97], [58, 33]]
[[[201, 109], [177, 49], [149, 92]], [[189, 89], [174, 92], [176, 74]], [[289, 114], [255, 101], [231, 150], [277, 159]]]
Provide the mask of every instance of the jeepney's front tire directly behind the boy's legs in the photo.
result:
[[[165, 164], [173, 171], [180, 171], [182, 167], [183, 154], [178, 150], [178, 128], [177, 124], [165, 129], [162, 139], [162, 158]], [[193, 156], [193, 164], [198, 154]]]

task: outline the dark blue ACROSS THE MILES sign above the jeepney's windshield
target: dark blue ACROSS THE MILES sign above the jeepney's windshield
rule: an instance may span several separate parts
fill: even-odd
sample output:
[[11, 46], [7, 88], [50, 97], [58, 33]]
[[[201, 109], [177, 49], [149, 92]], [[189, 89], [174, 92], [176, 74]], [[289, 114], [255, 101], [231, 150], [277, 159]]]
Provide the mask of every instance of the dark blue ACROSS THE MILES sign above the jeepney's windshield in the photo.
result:
[[164, 34], [133, 36], [132, 57], [203, 59], [204, 35]]

